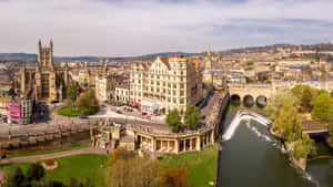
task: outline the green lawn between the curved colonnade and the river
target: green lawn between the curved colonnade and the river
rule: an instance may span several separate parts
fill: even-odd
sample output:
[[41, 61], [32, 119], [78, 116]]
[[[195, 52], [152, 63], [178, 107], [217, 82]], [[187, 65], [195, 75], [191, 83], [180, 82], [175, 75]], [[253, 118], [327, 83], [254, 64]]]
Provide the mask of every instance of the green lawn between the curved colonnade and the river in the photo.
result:
[[165, 154], [161, 162], [170, 167], [181, 167], [182, 164], [191, 172], [191, 187], [211, 187], [210, 181], [214, 181], [218, 164], [219, 149], [208, 146], [201, 152], [189, 152], [179, 155]]

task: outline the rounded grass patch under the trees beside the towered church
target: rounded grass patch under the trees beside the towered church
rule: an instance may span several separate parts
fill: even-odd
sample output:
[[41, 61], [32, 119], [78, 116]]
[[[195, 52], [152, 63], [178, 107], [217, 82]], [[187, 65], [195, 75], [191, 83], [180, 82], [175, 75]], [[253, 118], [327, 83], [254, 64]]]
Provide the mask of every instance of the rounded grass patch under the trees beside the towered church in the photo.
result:
[[57, 113], [63, 116], [82, 116], [82, 115], [93, 115], [99, 112], [99, 107], [90, 107], [85, 110], [78, 110], [71, 106], [62, 106], [60, 107]]

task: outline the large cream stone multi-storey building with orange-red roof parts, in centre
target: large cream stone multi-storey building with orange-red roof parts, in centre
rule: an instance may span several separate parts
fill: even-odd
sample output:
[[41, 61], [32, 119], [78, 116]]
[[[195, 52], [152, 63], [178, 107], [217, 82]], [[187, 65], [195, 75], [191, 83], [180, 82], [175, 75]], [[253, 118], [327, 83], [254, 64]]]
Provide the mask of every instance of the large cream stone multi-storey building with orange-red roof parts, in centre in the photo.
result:
[[182, 55], [131, 65], [130, 102], [140, 104], [149, 113], [168, 113], [178, 108], [183, 114], [186, 106], [203, 98], [202, 87], [202, 72]]

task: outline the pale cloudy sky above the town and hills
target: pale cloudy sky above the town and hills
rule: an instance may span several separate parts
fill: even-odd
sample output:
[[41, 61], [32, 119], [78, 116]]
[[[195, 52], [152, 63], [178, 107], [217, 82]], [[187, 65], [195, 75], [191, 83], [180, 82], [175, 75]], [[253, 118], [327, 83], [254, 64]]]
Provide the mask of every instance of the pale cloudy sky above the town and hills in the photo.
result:
[[0, 0], [0, 53], [130, 56], [333, 42], [333, 0]]

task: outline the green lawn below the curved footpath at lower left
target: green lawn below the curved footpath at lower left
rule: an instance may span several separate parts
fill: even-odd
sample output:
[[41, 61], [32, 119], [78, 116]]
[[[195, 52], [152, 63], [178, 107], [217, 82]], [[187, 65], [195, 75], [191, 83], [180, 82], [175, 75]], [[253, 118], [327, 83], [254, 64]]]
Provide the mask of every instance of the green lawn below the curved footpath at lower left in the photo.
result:
[[[104, 169], [100, 168], [100, 165], [104, 165], [107, 159], [107, 156], [95, 154], [54, 158], [53, 160], [58, 162], [58, 168], [47, 170], [47, 176], [51, 180], [61, 181], [64, 185], [69, 185], [72, 177], [75, 177], [81, 181], [89, 178], [95, 187], [105, 187]], [[8, 175], [14, 165], [16, 164], [0, 165], [0, 169], [3, 169], [6, 175]], [[20, 163], [17, 165], [21, 167], [23, 173], [27, 173], [31, 163]]]

